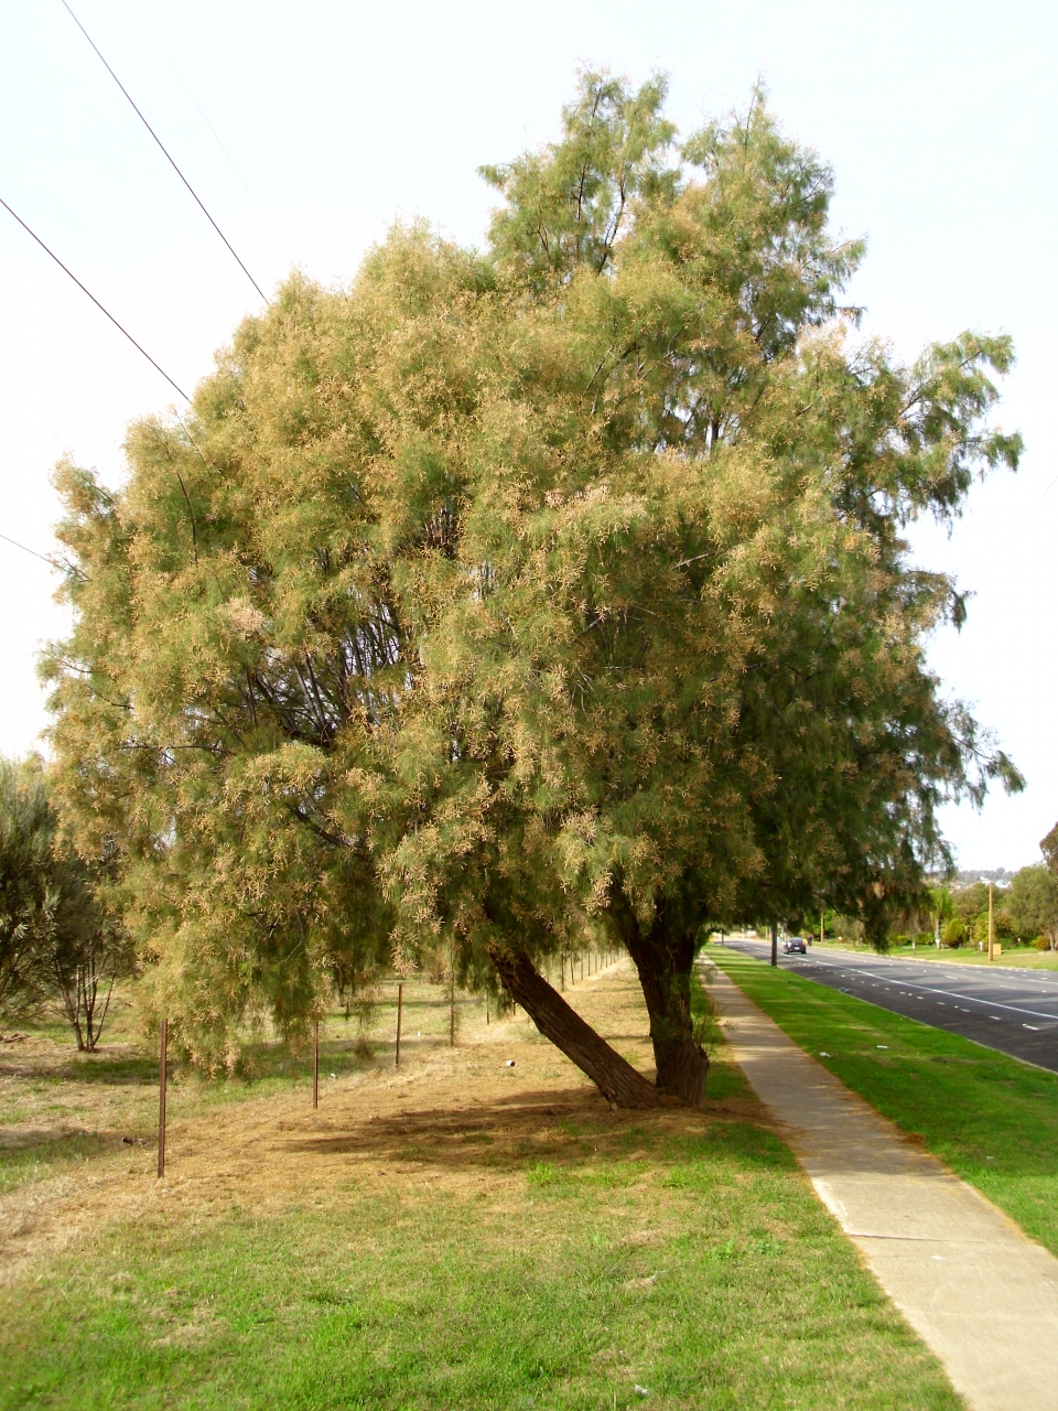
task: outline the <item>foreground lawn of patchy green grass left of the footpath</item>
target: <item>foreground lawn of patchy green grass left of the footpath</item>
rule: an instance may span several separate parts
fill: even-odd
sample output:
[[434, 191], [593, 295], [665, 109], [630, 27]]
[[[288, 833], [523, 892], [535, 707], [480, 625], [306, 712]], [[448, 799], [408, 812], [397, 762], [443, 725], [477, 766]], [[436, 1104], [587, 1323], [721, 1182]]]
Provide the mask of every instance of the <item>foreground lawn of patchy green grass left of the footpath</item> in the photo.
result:
[[0, 1295], [0, 1408], [954, 1411], [722, 1044], [710, 1091], [458, 1143], [430, 1113], [411, 1175], [159, 1201]]

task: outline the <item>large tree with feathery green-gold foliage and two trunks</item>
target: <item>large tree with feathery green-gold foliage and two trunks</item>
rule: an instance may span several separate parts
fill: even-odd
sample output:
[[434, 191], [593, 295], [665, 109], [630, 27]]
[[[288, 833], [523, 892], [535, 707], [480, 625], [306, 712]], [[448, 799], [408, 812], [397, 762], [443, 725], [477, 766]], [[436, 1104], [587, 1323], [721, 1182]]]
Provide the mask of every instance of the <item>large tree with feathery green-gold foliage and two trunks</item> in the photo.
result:
[[663, 96], [585, 75], [485, 169], [484, 251], [398, 229], [348, 291], [291, 279], [121, 491], [59, 470], [61, 789], [206, 1061], [444, 947], [649, 1103], [539, 972], [595, 926], [695, 1102], [707, 920], [882, 924], [937, 803], [1017, 782], [925, 669], [962, 605], [901, 538], [1016, 464], [1007, 340], [858, 346], [829, 169], [759, 93], [681, 145]]

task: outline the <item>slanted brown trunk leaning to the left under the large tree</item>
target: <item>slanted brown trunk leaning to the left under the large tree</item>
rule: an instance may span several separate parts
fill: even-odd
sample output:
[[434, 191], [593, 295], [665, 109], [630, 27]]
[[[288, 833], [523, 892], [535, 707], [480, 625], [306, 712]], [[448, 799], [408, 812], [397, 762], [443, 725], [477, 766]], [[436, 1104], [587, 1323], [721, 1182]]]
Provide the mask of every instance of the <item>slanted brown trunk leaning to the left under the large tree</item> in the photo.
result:
[[[499, 981], [515, 1003], [556, 1048], [595, 1084], [602, 1096], [618, 1108], [656, 1108], [657, 1094], [647, 1079], [615, 1053], [591, 1024], [537, 974], [525, 955], [491, 951]], [[563, 971], [566, 959], [563, 957]]]

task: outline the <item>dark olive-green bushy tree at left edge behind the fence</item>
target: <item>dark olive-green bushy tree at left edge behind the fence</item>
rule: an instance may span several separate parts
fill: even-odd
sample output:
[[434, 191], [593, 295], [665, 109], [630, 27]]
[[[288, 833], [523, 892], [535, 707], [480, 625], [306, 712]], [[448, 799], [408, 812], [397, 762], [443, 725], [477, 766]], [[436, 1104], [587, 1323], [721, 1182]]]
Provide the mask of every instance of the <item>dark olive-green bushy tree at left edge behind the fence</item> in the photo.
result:
[[58, 838], [41, 762], [0, 759], [0, 1020], [58, 1003], [78, 1048], [93, 1051], [114, 981], [131, 965], [123, 927]]

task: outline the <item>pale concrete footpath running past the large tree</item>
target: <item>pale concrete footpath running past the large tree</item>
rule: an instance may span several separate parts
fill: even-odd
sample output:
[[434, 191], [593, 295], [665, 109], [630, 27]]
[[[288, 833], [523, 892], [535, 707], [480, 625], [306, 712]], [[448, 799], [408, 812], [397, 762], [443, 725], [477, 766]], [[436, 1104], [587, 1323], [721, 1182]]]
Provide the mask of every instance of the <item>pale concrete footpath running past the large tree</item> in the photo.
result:
[[973, 1411], [1058, 1411], [1058, 1259], [916, 1149], [726, 975], [739, 1067], [827, 1209]]

